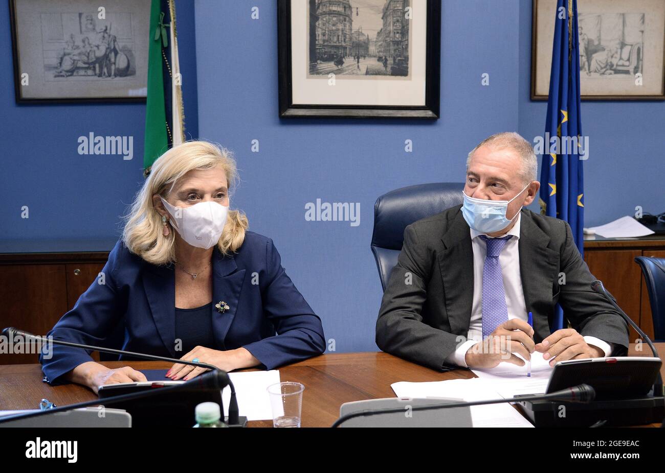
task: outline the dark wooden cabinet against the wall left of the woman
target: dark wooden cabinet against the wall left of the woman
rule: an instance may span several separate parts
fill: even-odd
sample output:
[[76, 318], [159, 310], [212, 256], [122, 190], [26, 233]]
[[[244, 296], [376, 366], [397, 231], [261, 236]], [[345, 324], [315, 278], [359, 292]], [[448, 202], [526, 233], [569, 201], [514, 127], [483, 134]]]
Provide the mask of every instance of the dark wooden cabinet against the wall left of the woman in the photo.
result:
[[[108, 251], [0, 254], [0, 328], [46, 335], [74, 307], [107, 259]], [[99, 354], [92, 357], [98, 360]], [[38, 362], [35, 349], [0, 353], [1, 365]]]

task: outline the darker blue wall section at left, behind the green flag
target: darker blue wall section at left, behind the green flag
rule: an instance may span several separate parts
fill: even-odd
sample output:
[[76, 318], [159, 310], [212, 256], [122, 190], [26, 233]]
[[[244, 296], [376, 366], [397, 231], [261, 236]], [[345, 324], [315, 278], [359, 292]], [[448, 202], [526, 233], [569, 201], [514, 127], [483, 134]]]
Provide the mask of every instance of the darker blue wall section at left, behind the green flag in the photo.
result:
[[[18, 105], [8, 3], [0, 5], [0, 238], [108, 238], [143, 182], [145, 104]], [[198, 138], [194, 3], [179, 0], [178, 35], [186, 126]], [[79, 155], [78, 137], [133, 136], [134, 158]], [[21, 207], [29, 218], [21, 219]], [[1, 243], [1, 242], [0, 242]], [[54, 244], [57, 246], [57, 244]], [[110, 248], [108, 248], [110, 249]], [[35, 249], [37, 250], [37, 248]]]

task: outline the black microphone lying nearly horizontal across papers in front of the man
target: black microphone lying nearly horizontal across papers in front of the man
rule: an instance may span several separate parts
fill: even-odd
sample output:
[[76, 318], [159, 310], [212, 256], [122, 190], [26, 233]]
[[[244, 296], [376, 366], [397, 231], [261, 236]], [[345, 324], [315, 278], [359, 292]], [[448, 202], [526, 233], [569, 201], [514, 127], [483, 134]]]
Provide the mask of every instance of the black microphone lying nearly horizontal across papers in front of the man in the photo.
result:
[[[520, 396], [520, 397], [511, 397], [510, 399], [492, 399], [489, 401], [470, 401], [462, 403], [441, 403], [441, 404], [430, 404], [426, 406], [414, 406], [412, 411], [430, 411], [432, 409], [450, 409], [452, 407], [471, 407], [487, 404], [500, 404], [500, 403], [521, 403], [523, 401], [566, 401], [569, 403], [591, 403], [596, 397], [596, 390], [593, 389], [591, 385], [581, 384], [566, 389], [561, 389], [561, 391], [555, 391], [554, 393], [549, 394], [535, 394], [533, 396]], [[349, 419], [354, 419], [355, 417], [367, 417], [378, 414], [390, 414], [390, 413], [403, 413], [404, 407], [393, 407], [390, 409], [366, 409], [364, 411], [357, 411], [354, 413], [348, 413], [343, 415], [336, 421], [331, 427], [338, 427], [342, 423], [348, 421]]]

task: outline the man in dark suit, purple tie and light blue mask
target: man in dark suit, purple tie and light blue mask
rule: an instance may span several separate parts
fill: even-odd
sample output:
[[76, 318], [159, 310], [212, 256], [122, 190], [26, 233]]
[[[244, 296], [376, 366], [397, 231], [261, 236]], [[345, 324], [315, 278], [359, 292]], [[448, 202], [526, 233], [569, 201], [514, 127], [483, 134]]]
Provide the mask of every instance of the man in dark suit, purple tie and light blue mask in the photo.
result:
[[[376, 322], [380, 349], [443, 371], [521, 366], [534, 351], [551, 365], [626, 353], [626, 322], [591, 289], [568, 223], [523, 208], [536, 172], [516, 133], [469, 153], [464, 204], [404, 231]], [[557, 302], [571, 328], [553, 330]]]

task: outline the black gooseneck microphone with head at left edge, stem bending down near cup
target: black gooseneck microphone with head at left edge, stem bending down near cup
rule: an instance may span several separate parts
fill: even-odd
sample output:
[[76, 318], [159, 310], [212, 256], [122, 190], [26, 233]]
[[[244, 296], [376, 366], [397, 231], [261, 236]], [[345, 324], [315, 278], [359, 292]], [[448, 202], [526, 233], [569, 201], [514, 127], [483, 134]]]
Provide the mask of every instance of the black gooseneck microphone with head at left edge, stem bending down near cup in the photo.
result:
[[[210, 369], [211, 371], [217, 371], [219, 373], [219, 379], [223, 380], [223, 387], [228, 386], [229, 389], [231, 389], [231, 399], [229, 400], [229, 425], [237, 425], [239, 423], [239, 411], [238, 411], [238, 401], [237, 398], [235, 397], [235, 387], [233, 386], [233, 382], [229, 378], [228, 373], [226, 371], [223, 371], [216, 367], [215, 365], [209, 365], [208, 363], [200, 363], [200, 362], [194, 362], [194, 361], [186, 361], [184, 359], [176, 359], [176, 358], [169, 358], [169, 357], [163, 357], [163, 356], [157, 356], [157, 355], [146, 355], [145, 353], [136, 353], [134, 351], [124, 351], [124, 350], [117, 350], [114, 348], [106, 348], [106, 347], [95, 347], [93, 345], [84, 345], [82, 343], [72, 343], [70, 341], [61, 341], [61, 340], [54, 340], [54, 339], [47, 339], [47, 337], [40, 337], [39, 335], [34, 335], [33, 333], [29, 333], [27, 331], [23, 330], [18, 330], [17, 328], [9, 327], [5, 328], [2, 331], [2, 334], [7, 337], [7, 338], [13, 338], [15, 335], [20, 335], [24, 337], [25, 339], [35, 339], [35, 340], [40, 340], [42, 343], [55, 343], [55, 345], [64, 345], [67, 347], [74, 347], [74, 348], [83, 348], [83, 349], [89, 349], [92, 351], [103, 351], [104, 353], [115, 353], [117, 355], [128, 355], [131, 357], [136, 357], [136, 358], [144, 358], [144, 359], [153, 359], [153, 360], [158, 360], [158, 361], [169, 361], [170, 363], [182, 363], [183, 365], [191, 365], [191, 366], [196, 366], [196, 367], [202, 367], [202, 368], [207, 368]], [[194, 378], [197, 379], [197, 378]], [[191, 381], [194, 381], [191, 380]], [[189, 381], [189, 382], [191, 382]], [[162, 391], [163, 392], [163, 391]], [[112, 399], [112, 398], [107, 398], [107, 399]], [[98, 404], [98, 402], [97, 402]], [[53, 410], [50, 410], [53, 411]]]

